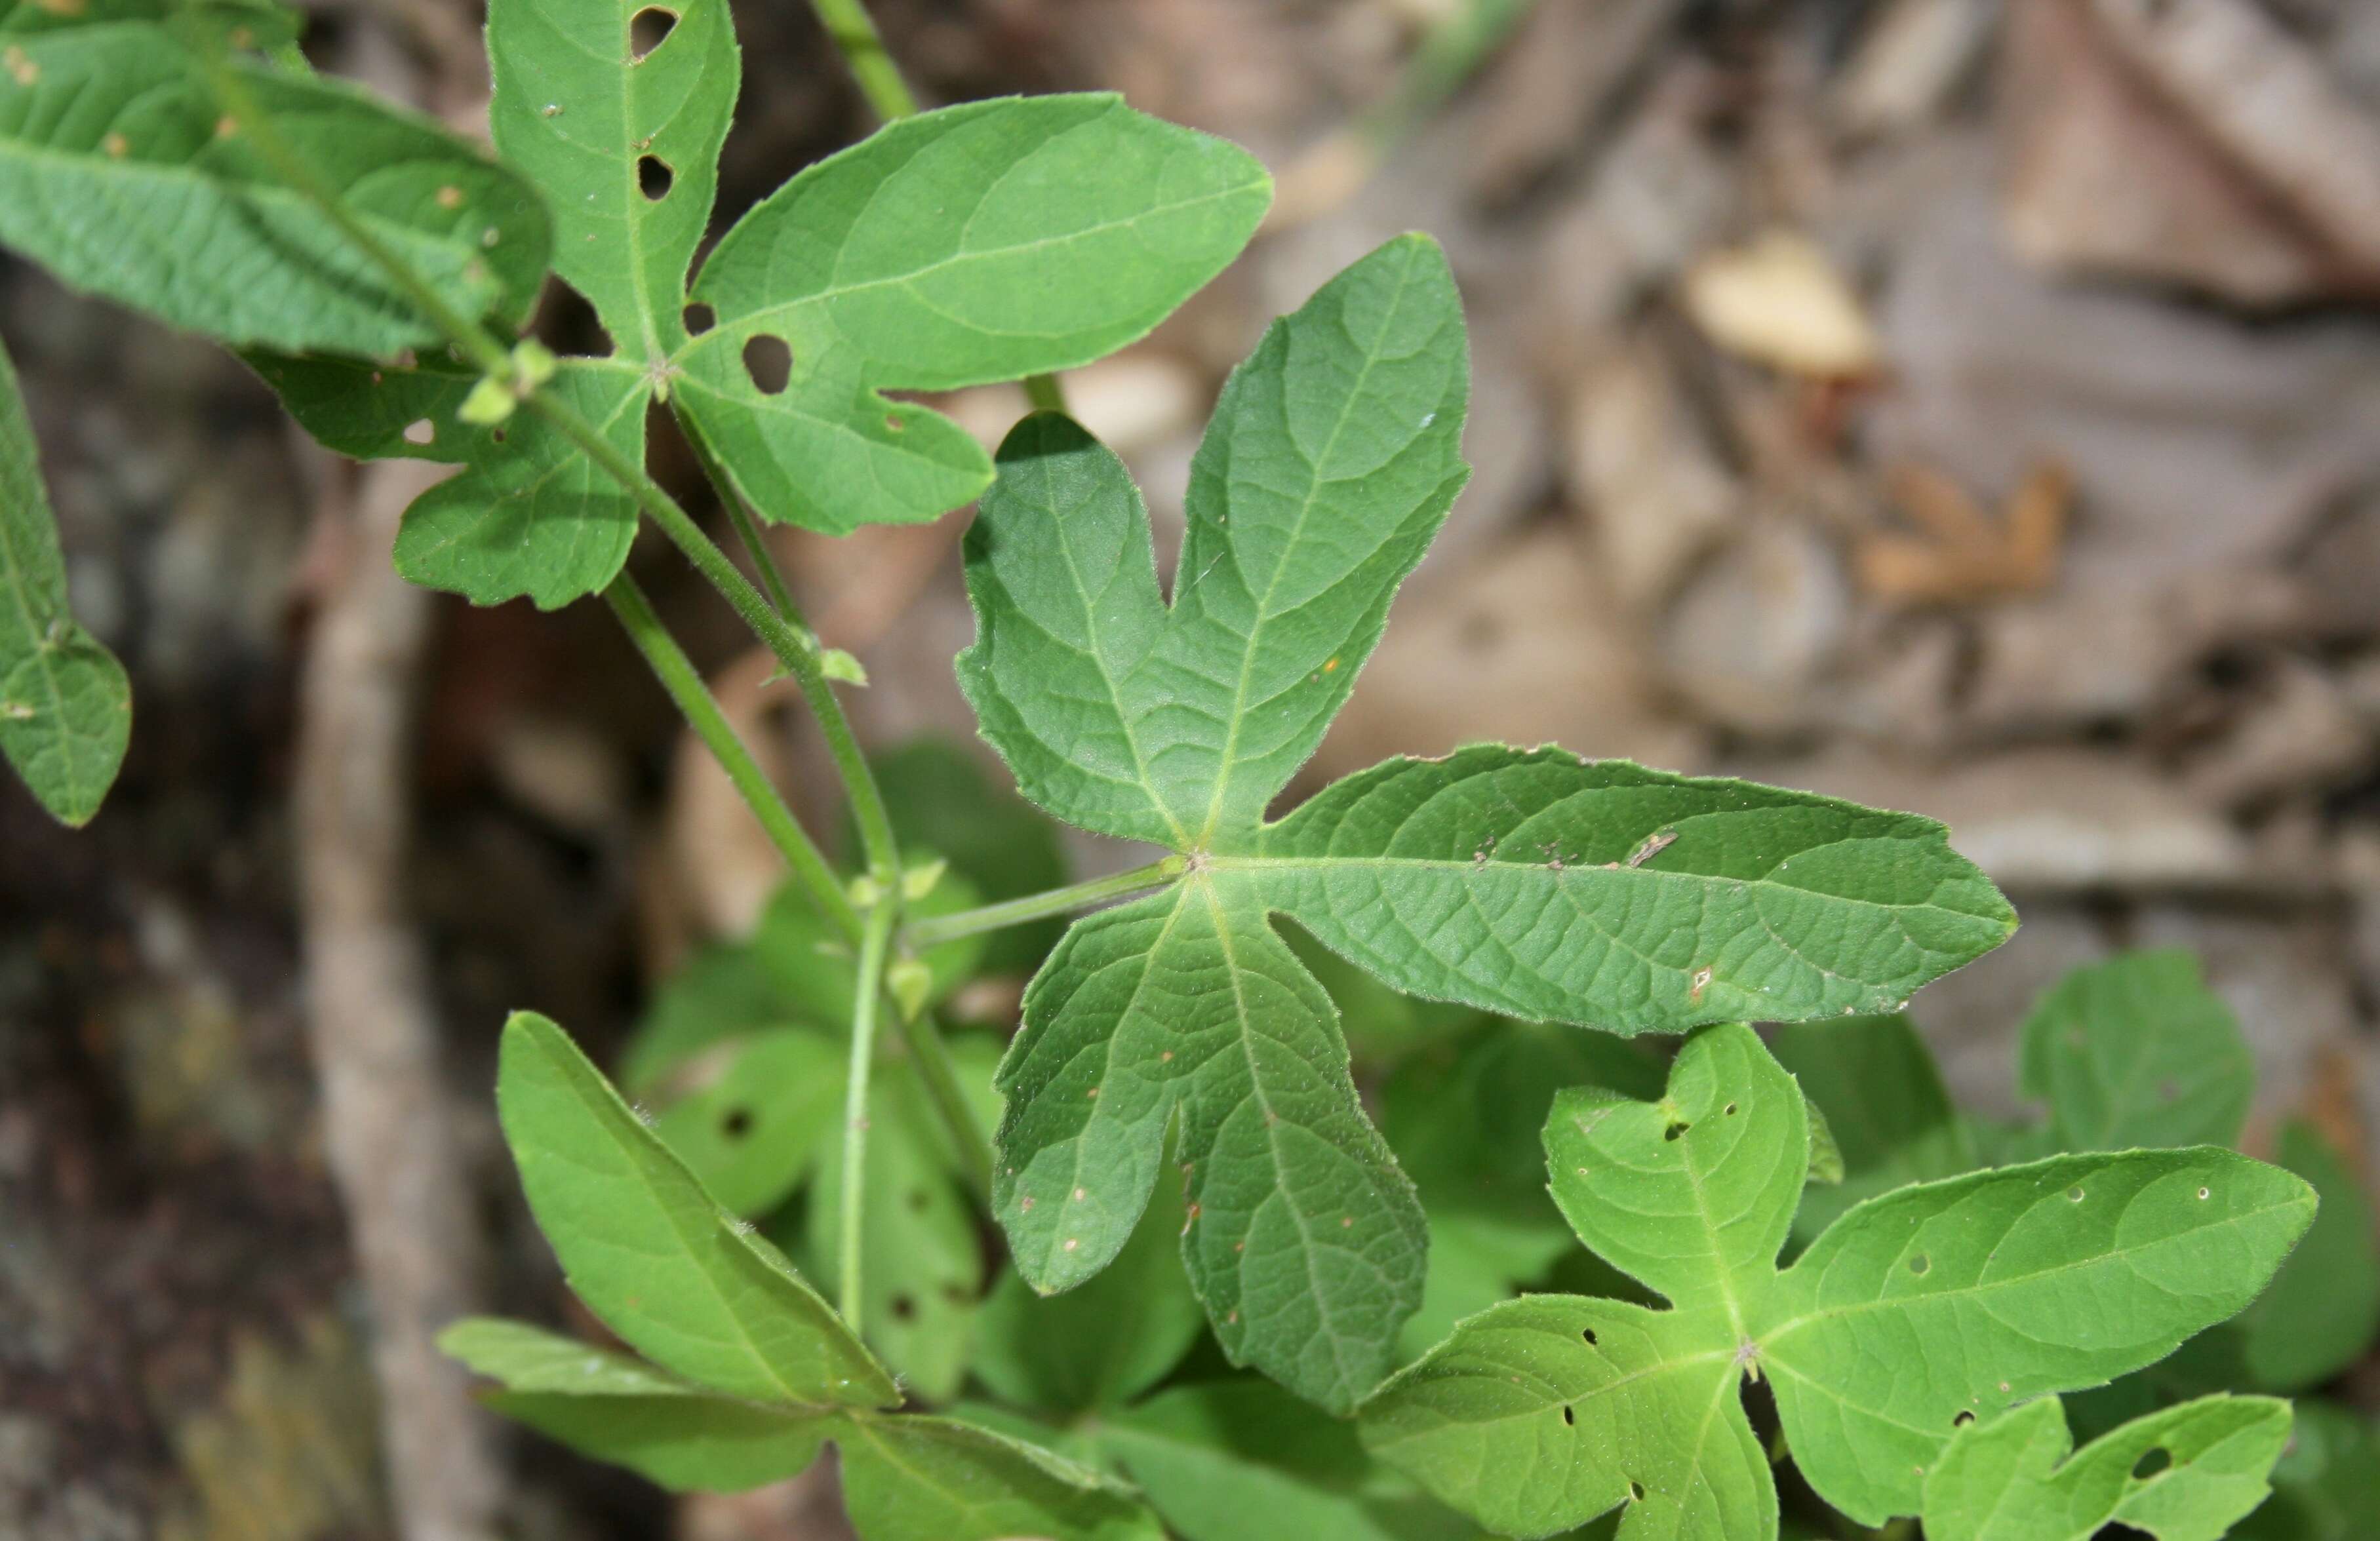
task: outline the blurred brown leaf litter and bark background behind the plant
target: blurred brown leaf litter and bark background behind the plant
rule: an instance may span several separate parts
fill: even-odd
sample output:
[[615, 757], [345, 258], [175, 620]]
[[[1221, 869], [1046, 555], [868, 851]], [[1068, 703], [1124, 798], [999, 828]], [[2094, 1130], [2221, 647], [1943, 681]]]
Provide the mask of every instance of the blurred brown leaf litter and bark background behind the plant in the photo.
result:
[[[471, 0], [309, 10], [324, 69], [483, 126]], [[2049, 980], [2175, 944], [2254, 1044], [2249, 1149], [2306, 1113], [2370, 1175], [2380, 0], [876, 10], [935, 102], [1119, 88], [1273, 166], [1250, 254], [1069, 378], [1161, 552], [1264, 321], [1445, 243], [1476, 476], [1307, 787], [1502, 737], [1930, 813], [2023, 911], [1914, 1006], [1966, 1106], [2016, 1111]], [[714, 228], [869, 128], [802, 5], [735, 19]], [[588, 345], [569, 295], [540, 328]], [[340, 464], [233, 359], [17, 264], [0, 333], [138, 702], [88, 830], [0, 787], [0, 1534], [395, 1536], [381, 1408], [443, 1389], [386, 1341], [376, 1375], [374, 1303], [557, 1294], [493, 1125], [505, 1011], [607, 1051], [776, 858], [600, 606], [395, 583], [421, 466]], [[938, 404], [992, 440], [1021, 411]], [[700, 497], [666, 438], [657, 471]], [[781, 547], [881, 749], [981, 751], [964, 523]], [[635, 571], [833, 830], [769, 663], [671, 552]], [[388, 1153], [424, 1146], [414, 1187]], [[831, 1534], [386, 1436], [524, 1536]]]

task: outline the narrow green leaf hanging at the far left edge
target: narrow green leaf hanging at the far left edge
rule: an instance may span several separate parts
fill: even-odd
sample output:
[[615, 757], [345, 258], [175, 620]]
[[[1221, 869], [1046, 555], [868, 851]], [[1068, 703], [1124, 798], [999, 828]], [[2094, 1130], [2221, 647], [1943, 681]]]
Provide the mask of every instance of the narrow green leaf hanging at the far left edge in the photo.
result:
[[33, 423], [0, 350], [0, 754], [40, 806], [88, 823], [133, 728], [124, 666], [67, 611], [67, 559]]

